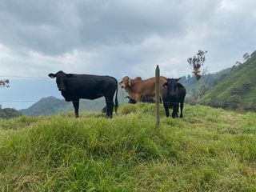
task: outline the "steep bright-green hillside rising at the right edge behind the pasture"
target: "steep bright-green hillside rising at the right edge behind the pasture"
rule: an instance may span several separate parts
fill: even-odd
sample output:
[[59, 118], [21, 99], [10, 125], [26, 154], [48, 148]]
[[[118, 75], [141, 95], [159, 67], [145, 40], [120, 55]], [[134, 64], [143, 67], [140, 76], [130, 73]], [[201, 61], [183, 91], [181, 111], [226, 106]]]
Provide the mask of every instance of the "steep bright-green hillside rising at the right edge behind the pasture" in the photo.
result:
[[[224, 108], [250, 108], [256, 103], [256, 55], [238, 66], [202, 97], [202, 103]], [[256, 110], [256, 106], [255, 106]]]

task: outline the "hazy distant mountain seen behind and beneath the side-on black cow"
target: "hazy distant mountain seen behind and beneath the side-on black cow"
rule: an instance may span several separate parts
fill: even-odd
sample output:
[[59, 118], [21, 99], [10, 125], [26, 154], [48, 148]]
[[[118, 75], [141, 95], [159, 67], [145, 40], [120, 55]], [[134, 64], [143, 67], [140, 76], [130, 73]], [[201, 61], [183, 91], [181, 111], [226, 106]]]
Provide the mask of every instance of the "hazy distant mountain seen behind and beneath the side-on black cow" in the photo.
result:
[[[126, 91], [119, 87], [119, 105], [127, 102], [126, 95]], [[106, 106], [105, 98], [98, 98], [95, 100], [81, 99], [79, 111], [101, 112], [104, 106]], [[19, 110], [20, 113], [29, 116], [51, 115], [70, 111], [74, 112], [72, 102], [66, 102], [64, 99], [55, 98], [53, 96], [48, 98], [42, 98], [29, 108], [25, 110]]]

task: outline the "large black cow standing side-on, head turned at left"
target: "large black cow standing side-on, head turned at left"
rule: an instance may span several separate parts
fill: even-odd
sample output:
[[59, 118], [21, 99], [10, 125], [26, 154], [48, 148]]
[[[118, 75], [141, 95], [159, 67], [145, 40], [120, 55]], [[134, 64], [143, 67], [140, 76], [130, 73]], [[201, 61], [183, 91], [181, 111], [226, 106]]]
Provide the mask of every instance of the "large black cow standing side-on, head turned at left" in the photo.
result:
[[58, 90], [62, 92], [66, 102], [73, 102], [74, 114], [77, 118], [80, 98], [94, 100], [105, 97], [106, 116], [108, 118], [112, 118], [113, 107], [115, 111], [118, 110], [118, 81], [113, 77], [93, 74], [65, 74], [62, 70], [56, 74], [48, 74], [48, 76], [56, 78]]

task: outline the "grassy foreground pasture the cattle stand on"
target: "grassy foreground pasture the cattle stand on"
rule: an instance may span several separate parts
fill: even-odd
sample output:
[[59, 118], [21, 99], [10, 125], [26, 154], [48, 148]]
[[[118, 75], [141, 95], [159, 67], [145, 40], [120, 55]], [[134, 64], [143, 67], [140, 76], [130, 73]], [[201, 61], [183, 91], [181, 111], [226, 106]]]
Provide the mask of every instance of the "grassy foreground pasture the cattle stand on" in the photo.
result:
[[[162, 110], [162, 108], [161, 108]], [[2, 191], [254, 191], [256, 114], [154, 105], [0, 120]]]

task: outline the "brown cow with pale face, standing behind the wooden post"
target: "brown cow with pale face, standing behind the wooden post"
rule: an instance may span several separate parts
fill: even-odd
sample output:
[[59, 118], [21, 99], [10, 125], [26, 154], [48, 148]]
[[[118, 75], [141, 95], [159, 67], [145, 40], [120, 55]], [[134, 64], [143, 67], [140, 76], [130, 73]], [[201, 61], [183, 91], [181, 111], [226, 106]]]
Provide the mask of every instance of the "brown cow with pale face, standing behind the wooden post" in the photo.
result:
[[[163, 85], [166, 83], [165, 77], [160, 77], [160, 94], [162, 96]], [[143, 98], [154, 98], [155, 96], [155, 78], [142, 78], [131, 79], [128, 76], [122, 78], [122, 82], [119, 83], [122, 88], [125, 88], [130, 98], [133, 98], [136, 102], [142, 102]]]

